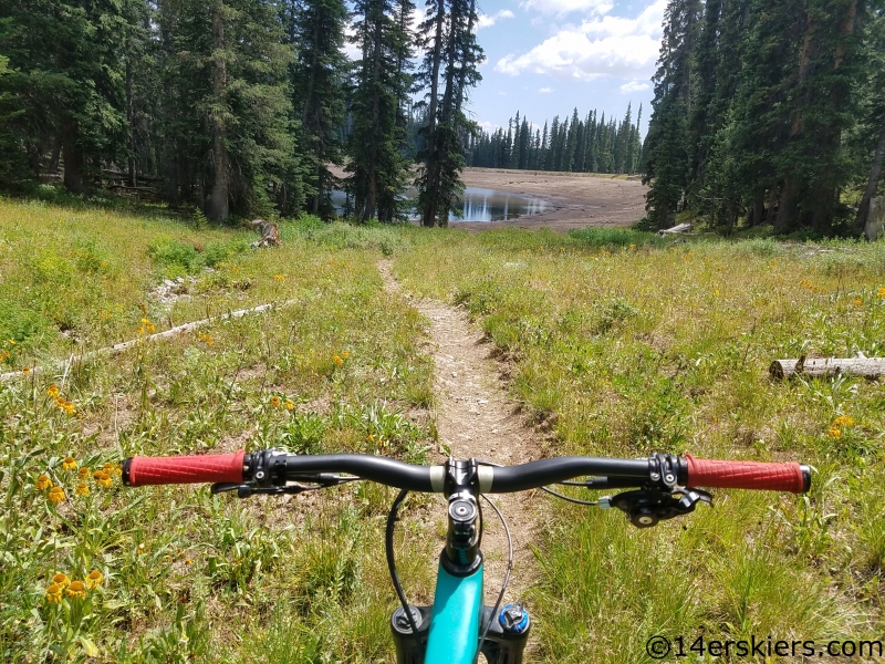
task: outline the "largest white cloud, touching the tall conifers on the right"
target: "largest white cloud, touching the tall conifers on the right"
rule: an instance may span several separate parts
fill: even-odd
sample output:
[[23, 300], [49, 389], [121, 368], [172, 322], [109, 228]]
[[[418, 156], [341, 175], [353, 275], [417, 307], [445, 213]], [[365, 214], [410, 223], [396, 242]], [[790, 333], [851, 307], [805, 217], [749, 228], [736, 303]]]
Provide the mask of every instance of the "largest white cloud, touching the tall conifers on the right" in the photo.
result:
[[[553, 4], [566, 1], [572, 0], [554, 0]], [[513, 76], [532, 72], [580, 81], [650, 79], [666, 4], [666, 0], [655, 0], [635, 19], [604, 15], [563, 28], [527, 53], [502, 58], [494, 70]]]

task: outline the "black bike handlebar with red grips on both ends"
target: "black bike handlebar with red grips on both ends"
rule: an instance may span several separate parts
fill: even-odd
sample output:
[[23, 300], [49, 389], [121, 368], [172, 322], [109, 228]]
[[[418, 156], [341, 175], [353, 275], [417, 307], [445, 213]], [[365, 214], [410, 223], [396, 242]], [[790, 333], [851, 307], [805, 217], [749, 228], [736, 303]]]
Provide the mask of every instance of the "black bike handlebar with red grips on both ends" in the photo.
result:
[[[281, 486], [287, 481], [317, 480], [319, 475], [347, 473], [399, 489], [441, 492], [445, 466], [417, 466], [363, 454], [294, 455], [273, 449], [246, 454], [131, 457], [123, 465], [127, 486], [196, 483], [252, 483]], [[478, 469], [483, 494], [509, 494], [540, 488], [581, 476], [594, 476], [591, 488], [665, 486], [756, 489], [802, 494], [811, 486], [811, 470], [796, 463], [730, 461], [654, 455], [639, 459], [568, 456], [517, 466]]]

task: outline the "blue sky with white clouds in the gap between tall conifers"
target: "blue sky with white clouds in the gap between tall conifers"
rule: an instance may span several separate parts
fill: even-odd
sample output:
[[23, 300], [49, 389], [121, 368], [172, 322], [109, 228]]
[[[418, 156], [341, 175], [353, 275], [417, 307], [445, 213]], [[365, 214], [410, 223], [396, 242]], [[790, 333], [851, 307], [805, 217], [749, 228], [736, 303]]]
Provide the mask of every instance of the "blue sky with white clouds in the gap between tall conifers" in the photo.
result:
[[[418, 1], [420, 6], [420, 0]], [[482, 82], [470, 110], [483, 128], [507, 126], [517, 111], [541, 126], [554, 115], [596, 108], [620, 120], [654, 96], [650, 77], [666, 0], [481, 0]]]

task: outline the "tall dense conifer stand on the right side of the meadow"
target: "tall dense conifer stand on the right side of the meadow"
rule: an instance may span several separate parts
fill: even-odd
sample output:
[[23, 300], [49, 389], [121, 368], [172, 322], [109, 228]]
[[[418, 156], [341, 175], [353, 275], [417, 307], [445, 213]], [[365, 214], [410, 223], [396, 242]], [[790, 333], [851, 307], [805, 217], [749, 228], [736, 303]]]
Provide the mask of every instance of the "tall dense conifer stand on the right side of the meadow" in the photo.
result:
[[649, 227], [685, 210], [727, 229], [863, 229], [885, 154], [884, 4], [670, 0], [644, 148]]

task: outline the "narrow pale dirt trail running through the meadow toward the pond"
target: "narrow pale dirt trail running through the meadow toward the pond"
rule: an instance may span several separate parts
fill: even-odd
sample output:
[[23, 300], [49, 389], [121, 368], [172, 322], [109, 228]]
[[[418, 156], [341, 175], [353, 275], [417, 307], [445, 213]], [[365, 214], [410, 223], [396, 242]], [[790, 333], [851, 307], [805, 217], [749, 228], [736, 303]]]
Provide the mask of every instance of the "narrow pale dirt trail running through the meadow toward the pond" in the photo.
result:
[[[391, 262], [381, 261], [378, 269], [387, 291], [399, 293], [399, 283], [391, 273]], [[527, 424], [518, 404], [507, 396], [499, 377], [500, 367], [490, 357], [491, 346], [483, 342], [482, 332], [460, 309], [426, 299], [415, 299], [412, 304], [430, 321], [439, 440], [456, 458], [476, 457], [507, 465], [541, 458], [543, 438]], [[535, 494], [491, 496], [513, 538], [513, 570], [506, 602], [524, 601], [523, 591], [537, 578], [535, 559], [529, 546], [542, 522], [539, 510], [544, 500]], [[507, 570], [507, 536], [494, 511], [485, 502], [482, 507], [486, 601], [491, 604]]]

